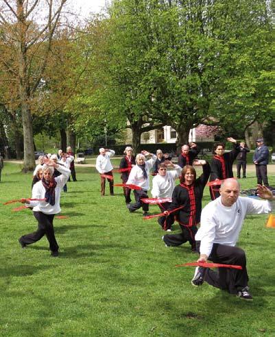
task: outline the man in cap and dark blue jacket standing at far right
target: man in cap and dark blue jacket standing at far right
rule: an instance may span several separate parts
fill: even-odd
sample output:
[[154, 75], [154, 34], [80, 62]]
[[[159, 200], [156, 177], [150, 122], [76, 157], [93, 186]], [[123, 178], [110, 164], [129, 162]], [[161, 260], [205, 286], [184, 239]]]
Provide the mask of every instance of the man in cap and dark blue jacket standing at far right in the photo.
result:
[[257, 184], [269, 186], [267, 179], [267, 164], [270, 156], [268, 147], [264, 145], [263, 138], [256, 140], [256, 149], [253, 155], [253, 162], [256, 168]]

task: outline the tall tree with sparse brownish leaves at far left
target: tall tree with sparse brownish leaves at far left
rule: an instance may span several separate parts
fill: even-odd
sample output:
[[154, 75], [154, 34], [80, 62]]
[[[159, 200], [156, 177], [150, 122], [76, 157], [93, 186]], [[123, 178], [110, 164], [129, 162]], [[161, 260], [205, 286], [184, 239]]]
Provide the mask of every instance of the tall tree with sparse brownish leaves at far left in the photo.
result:
[[[34, 138], [32, 128], [32, 102], [41, 84], [47, 66], [53, 34], [60, 23], [60, 15], [67, 0], [45, 1], [48, 10], [47, 22], [36, 23], [40, 1], [1, 0], [1, 43], [12, 57], [11, 61], [1, 57], [2, 67], [14, 75], [22, 114], [24, 137], [23, 171], [32, 171], [34, 160]], [[57, 3], [57, 5], [55, 5]], [[42, 18], [40, 18], [42, 21]]]

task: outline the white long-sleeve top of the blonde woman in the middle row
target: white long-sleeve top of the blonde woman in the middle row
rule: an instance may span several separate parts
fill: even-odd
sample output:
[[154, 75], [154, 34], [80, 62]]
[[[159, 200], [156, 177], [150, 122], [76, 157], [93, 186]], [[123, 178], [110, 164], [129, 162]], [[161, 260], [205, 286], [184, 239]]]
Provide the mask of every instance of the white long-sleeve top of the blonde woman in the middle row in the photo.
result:
[[134, 165], [130, 171], [128, 181], [126, 184], [134, 184], [141, 187], [143, 190], [150, 189], [150, 169], [154, 166], [156, 162], [156, 155], [152, 155], [150, 160], [145, 162], [145, 171], [147, 173], [147, 179], [143, 177], [143, 171], [138, 165]]

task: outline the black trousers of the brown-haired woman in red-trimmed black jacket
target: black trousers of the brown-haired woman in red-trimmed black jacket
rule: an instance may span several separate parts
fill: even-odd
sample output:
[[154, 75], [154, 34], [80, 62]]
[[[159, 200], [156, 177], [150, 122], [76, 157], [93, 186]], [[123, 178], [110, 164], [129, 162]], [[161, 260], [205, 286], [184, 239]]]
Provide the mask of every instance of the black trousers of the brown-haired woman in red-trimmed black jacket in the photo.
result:
[[180, 246], [183, 243], [189, 241], [191, 250], [195, 251], [195, 234], [198, 232], [197, 226], [186, 227], [180, 225], [182, 232], [180, 234], [169, 234], [163, 236], [163, 241], [167, 246]]

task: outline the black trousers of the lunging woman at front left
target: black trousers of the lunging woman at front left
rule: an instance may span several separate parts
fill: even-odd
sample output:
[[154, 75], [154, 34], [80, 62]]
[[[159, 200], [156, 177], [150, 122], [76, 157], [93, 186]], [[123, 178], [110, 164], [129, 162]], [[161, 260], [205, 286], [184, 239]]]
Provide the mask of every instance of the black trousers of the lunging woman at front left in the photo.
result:
[[58, 242], [56, 242], [56, 236], [53, 229], [53, 218], [55, 214], [45, 214], [43, 212], [34, 212], [34, 216], [38, 221], [38, 229], [36, 232], [21, 236], [19, 241], [25, 245], [31, 245], [32, 243], [40, 240], [43, 236], [47, 236], [49, 241], [49, 249], [51, 251], [58, 251]]

